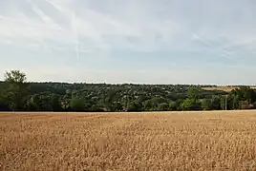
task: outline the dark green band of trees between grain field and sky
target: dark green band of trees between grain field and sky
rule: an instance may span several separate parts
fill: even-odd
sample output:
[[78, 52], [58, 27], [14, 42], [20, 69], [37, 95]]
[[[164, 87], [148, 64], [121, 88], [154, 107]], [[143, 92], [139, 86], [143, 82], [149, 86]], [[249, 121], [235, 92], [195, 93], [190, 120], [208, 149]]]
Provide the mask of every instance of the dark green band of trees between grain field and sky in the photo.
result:
[[256, 108], [256, 92], [241, 86], [231, 92], [207, 85], [107, 85], [28, 83], [19, 70], [0, 82], [1, 111], [176, 111]]

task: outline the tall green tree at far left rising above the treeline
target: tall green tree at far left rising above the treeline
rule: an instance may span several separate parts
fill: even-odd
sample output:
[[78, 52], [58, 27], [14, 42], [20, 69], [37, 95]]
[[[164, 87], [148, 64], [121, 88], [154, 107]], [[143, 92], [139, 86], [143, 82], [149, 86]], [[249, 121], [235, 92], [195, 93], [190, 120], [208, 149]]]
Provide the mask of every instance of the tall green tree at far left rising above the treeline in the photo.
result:
[[5, 73], [5, 83], [8, 88], [5, 97], [12, 110], [22, 110], [28, 98], [28, 83], [26, 74], [19, 70]]

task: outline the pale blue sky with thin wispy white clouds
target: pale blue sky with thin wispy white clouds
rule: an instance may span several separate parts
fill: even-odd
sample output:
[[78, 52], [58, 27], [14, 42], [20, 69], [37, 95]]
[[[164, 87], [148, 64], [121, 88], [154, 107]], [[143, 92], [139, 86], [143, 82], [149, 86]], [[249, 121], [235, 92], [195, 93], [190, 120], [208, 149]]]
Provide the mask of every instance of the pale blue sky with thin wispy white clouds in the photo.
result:
[[256, 85], [255, 0], [0, 0], [0, 80]]

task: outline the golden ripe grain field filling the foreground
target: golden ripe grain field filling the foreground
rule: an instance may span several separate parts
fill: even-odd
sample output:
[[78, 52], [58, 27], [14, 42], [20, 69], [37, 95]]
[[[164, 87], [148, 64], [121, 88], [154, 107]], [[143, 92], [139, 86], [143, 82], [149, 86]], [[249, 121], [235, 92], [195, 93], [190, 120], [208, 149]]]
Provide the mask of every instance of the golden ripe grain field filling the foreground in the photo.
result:
[[0, 170], [255, 170], [256, 111], [1, 113]]

